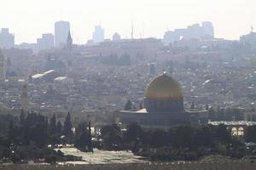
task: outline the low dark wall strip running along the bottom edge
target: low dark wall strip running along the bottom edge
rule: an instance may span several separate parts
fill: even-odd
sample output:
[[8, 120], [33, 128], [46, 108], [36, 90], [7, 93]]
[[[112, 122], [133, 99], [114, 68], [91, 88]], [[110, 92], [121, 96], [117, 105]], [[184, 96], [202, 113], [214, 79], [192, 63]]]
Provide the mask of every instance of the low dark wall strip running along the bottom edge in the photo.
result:
[[102, 165], [1, 165], [0, 170], [255, 170], [256, 161], [226, 162], [149, 162]]

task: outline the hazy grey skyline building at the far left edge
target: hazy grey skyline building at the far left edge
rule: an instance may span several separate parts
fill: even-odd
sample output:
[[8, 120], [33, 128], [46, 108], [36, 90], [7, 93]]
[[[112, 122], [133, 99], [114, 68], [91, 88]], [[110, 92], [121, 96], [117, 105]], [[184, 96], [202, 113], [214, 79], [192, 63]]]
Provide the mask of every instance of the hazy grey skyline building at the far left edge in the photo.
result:
[[15, 47], [15, 35], [9, 33], [9, 28], [2, 28], [0, 32], [0, 48]]

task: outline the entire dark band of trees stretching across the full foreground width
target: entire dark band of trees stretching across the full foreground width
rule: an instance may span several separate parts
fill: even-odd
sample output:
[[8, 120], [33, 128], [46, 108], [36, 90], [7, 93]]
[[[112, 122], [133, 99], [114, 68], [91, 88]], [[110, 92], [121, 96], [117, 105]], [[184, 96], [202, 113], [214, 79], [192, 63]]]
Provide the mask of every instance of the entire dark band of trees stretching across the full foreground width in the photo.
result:
[[[231, 135], [224, 125], [183, 124], [169, 129], [143, 128], [131, 123], [125, 128], [117, 124], [101, 127], [92, 140], [90, 121], [73, 126], [71, 114], [57, 122], [36, 112], [20, 116], [0, 116], [0, 159], [13, 162], [38, 160], [47, 162], [80, 160], [55, 151], [58, 144], [74, 144], [82, 151], [132, 150], [152, 161], [198, 160], [202, 156], [221, 154], [241, 158], [253, 154], [245, 142], [256, 143], [256, 126], [247, 127], [244, 138]], [[75, 127], [75, 128], [74, 128]], [[51, 146], [51, 147], [49, 147]]]

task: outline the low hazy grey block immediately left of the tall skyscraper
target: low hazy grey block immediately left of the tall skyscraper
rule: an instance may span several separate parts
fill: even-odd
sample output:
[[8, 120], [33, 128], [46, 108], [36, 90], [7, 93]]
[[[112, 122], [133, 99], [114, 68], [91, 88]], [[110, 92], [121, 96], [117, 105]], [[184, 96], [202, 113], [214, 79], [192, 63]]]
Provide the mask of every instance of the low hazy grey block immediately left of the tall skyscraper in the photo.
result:
[[38, 50], [49, 49], [54, 47], [54, 35], [53, 34], [42, 34], [41, 38], [37, 40]]

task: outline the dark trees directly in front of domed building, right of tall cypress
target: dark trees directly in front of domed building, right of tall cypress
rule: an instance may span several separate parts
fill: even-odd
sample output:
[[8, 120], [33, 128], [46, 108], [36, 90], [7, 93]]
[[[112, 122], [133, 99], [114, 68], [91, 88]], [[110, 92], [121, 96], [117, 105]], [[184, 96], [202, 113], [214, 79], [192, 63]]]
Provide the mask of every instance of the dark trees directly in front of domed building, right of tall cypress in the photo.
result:
[[[256, 141], [256, 127], [247, 135]], [[232, 136], [224, 125], [186, 124], [163, 130], [132, 123], [124, 130], [113, 124], [102, 127], [101, 138], [102, 149], [132, 150], [152, 161], [193, 161], [215, 154], [241, 158], [248, 154], [244, 139]]]

